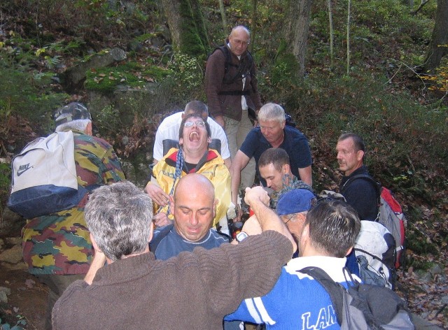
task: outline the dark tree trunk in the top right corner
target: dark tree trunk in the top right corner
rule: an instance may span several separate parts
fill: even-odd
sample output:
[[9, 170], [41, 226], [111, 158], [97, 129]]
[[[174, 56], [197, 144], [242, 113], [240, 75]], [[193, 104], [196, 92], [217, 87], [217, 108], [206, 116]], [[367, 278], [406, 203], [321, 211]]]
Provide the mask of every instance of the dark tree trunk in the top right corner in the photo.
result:
[[433, 71], [448, 53], [448, 0], [437, 0], [435, 25], [423, 69]]

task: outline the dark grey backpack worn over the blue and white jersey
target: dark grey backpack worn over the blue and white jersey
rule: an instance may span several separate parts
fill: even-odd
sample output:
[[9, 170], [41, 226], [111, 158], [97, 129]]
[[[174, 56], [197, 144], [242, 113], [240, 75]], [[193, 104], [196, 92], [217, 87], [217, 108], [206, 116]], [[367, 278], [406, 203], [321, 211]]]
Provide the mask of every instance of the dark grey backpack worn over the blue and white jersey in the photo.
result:
[[306, 267], [299, 271], [310, 275], [330, 295], [337, 323], [341, 329], [414, 329], [405, 302], [386, 287], [359, 283], [344, 268], [350, 280], [348, 289], [335, 282], [318, 267]]

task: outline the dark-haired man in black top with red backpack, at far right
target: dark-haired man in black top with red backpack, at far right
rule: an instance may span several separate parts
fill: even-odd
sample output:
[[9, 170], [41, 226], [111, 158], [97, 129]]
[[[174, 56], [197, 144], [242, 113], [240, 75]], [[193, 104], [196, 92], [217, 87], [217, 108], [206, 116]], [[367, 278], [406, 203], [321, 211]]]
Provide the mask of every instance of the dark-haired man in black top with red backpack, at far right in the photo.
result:
[[342, 134], [336, 145], [339, 170], [344, 172], [339, 192], [359, 214], [360, 220], [374, 221], [378, 214], [378, 192], [373, 182], [355, 175], [369, 175], [363, 163], [365, 144], [363, 139], [353, 133]]

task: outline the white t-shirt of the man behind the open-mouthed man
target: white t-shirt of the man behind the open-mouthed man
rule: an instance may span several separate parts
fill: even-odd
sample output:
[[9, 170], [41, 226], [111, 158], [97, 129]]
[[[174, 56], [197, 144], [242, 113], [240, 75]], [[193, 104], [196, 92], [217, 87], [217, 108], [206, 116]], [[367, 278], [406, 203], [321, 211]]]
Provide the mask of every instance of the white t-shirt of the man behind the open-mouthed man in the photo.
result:
[[[176, 140], [179, 141], [179, 129], [181, 128], [183, 111], [179, 113], [174, 113], [166, 117], [159, 125], [157, 132], [155, 133], [154, 159], [160, 161], [163, 158], [163, 141], [164, 140]], [[221, 157], [223, 159], [230, 158], [229, 143], [227, 141], [227, 136], [225, 136], [225, 131], [220, 124], [215, 122], [211, 117], [207, 118], [207, 122], [210, 125], [211, 138], [218, 138], [221, 140]]]

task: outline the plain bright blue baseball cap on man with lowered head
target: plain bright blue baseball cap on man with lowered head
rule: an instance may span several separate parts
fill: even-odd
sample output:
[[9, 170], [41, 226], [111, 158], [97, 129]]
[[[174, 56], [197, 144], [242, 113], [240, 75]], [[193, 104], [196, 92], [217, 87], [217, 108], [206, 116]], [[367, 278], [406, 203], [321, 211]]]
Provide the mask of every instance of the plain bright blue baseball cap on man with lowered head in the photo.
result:
[[277, 214], [286, 215], [308, 211], [316, 196], [307, 189], [293, 189], [282, 194], [277, 202]]

